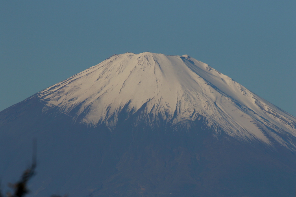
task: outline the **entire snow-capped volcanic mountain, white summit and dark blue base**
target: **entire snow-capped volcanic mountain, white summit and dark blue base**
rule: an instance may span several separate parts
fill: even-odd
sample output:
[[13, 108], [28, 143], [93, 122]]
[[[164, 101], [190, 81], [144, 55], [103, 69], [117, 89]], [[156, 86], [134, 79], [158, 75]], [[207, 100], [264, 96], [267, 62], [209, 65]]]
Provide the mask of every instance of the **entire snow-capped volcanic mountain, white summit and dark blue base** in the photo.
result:
[[31, 196], [295, 196], [296, 118], [188, 56], [113, 55], [0, 112]]

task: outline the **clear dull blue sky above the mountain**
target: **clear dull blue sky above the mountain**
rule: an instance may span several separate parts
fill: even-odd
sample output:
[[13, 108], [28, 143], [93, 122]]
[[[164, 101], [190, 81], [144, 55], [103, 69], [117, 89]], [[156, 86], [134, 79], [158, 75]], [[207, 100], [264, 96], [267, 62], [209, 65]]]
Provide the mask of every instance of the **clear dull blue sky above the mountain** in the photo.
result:
[[296, 116], [296, 1], [0, 1], [0, 111], [127, 51], [188, 54]]

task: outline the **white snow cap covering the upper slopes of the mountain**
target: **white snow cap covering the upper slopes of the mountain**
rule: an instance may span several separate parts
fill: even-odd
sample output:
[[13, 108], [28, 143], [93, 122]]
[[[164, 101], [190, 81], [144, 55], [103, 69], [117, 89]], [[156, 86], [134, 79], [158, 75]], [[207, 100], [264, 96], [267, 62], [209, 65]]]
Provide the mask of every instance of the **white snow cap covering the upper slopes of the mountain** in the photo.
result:
[[133, 114], [145, 104], [138, 122], [173, 126], [203, 116], [216, 135], [296, 150], [295, 117], [188, 55], [115, 54], [37, 95], [44, 112], [54, 107], [88, 126], [112, 130], [123, 109]]

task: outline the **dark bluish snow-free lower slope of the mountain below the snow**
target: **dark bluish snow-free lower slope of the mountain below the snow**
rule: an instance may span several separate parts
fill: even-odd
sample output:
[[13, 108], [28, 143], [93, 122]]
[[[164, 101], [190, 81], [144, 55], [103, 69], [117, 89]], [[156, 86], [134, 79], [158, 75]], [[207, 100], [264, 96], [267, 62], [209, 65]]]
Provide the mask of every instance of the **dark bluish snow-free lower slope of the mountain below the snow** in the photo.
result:
[[41, 113], [43, 107], [32, 97], [0, 112], [2, 183], [18, 179], [38, 139], [31, 196], [295, 196], [294, 154], [223, 132], [217, 139], [202, 118], [152, 129], [134, 126], [140, 110], [125, 121], [122, 114], [111, 133], [72, 124], [55, 109]]

